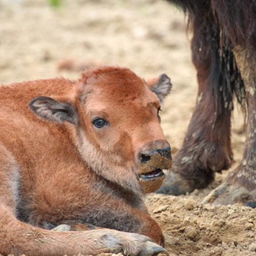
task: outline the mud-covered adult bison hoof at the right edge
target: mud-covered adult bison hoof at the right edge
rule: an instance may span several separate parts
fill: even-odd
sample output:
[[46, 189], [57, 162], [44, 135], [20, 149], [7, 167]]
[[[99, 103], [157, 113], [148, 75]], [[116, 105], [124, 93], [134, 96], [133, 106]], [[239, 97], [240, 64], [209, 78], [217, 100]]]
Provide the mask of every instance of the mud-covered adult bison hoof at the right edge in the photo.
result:
[[239, 183], [228, 183], [225, 181], [210, 192], [202, 201], [203, 204], [212, 205], [234, 205], [241, 204], [256, 207], [256, 189], [247, 189]]

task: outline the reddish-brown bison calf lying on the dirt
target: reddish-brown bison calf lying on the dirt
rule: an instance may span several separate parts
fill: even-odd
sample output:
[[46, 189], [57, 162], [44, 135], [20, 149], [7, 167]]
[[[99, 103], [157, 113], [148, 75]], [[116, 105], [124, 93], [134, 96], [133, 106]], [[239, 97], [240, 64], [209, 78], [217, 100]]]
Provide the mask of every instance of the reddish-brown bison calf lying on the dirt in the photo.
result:
[[[159, 118], [170, 89], [165, 74], [120, 67], [0, 87], [0, 253], [167, 254], [143, 193], [171, 167]], [[51, 230], [77, 223], [89, 230]]]

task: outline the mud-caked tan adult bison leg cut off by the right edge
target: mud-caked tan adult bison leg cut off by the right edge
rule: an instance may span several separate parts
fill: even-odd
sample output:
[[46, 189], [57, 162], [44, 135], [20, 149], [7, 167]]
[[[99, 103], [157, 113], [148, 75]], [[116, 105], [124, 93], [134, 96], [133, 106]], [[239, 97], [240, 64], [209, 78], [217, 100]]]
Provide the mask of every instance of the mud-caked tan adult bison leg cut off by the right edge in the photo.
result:
[[213, 190], [203, 203], [231, 205], [242, 203], [256, 207], [256, 54], [236, 46], [236, 61], [246, 87], [248, 120], [246, 143], [241, 164]]

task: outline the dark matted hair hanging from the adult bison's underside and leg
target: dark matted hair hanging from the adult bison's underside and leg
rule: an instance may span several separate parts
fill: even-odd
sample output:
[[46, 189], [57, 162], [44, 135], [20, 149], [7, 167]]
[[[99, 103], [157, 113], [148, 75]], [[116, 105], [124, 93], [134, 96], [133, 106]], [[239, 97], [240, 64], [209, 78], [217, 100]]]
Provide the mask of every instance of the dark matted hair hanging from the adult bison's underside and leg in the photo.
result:
[[[233, 55], [234, 46], [256, 51], [256, 0], [167, 0], [189, 16], [194, 48], [211, 52], [209, 83], [217, 111], [220, 101], [233, 108], [232, 96], [246, 109], [245, 87]], [[196, 66], [195, 52], [192, 55]], [[230, 107], [231, 106], [231, 107]]]

